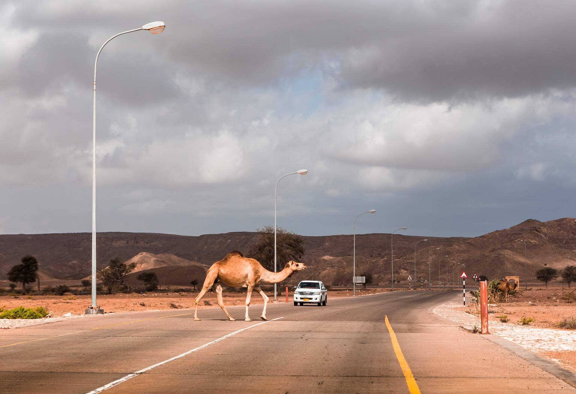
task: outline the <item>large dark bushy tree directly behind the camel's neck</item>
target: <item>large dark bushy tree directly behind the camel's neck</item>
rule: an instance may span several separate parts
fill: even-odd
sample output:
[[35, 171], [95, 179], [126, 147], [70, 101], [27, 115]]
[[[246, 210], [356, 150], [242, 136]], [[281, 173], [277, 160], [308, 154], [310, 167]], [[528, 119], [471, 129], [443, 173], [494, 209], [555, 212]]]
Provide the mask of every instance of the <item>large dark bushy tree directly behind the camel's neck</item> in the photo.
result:
[[[250, 246], [247, 257], [255, 258], [268, 271], [274, 271], [274, 227], [264, 226], [257, 229], [256, 242]], [[276, 261], [278, 270], [284, 268], [290, 260], [299, 261], [304, 256], [306, 239], [302, 235], [276, 227]], [[283, 283], [278, 284], [283, 288]], [[282, 294], [282, 291], [279, 291]]]

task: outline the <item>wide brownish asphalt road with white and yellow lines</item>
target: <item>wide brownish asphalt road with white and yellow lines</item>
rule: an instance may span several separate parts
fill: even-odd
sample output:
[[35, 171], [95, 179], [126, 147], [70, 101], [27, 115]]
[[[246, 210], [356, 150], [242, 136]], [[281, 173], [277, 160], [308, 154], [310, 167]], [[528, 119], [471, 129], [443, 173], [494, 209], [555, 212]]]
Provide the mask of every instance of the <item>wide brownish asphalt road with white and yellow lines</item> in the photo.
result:
[[[455, 294], [399, 291], [328, 298], [325, 307], [270, 304], [267, 317], [280, 319], [260, 325], [225, 320], [214, 308], [199, 311], [202, 321], [193, 320], [194, 311], [173, 310], [5, 330], [0, 392], [88, 393], [122, 379], [104, 392], [576, 392], [483, 336], [427, 312]], [[257, 318], [262, 305], [250, 310]], [[228, 311], [244, 317], [244, 307]]]

